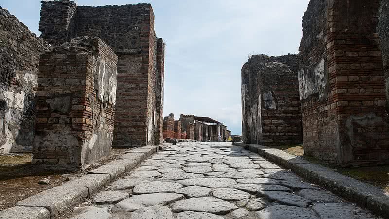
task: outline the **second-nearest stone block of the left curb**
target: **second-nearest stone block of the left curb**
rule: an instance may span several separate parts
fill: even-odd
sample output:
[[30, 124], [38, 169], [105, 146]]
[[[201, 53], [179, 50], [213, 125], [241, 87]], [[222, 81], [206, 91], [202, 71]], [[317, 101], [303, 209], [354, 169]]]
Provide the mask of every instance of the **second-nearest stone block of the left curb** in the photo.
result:
[[55, 217], [74, 205], [86, 200], [89, 196], [86, 187], [59, 186], [48, 189], [25, 200], [19, 201], [18, 206], [45, 207]]

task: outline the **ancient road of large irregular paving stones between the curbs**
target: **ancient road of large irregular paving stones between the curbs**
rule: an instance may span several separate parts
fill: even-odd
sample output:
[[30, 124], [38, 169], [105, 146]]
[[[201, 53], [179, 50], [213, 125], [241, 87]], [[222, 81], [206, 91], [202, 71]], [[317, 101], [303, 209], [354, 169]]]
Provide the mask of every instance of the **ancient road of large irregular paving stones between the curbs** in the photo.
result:
[[74, 211], [75, 219], [366, 219], [354, 204], [231, 143], [178, 143]]

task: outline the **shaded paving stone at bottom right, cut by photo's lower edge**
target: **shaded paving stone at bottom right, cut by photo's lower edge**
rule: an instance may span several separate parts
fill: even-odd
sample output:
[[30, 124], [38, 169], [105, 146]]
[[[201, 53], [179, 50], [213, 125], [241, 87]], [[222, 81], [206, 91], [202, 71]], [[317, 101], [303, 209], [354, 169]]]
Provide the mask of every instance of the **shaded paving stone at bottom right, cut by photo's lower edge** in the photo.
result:
[[345, 203], [318, 203], [312, 207], [321, 219], [373, 219], [364, 211]]

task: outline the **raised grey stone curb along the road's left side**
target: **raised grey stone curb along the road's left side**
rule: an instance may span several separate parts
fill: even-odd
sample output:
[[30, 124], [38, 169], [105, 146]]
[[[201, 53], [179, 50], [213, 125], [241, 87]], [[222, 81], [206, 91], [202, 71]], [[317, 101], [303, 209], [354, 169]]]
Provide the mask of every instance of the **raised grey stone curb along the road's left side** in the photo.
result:
[[163, 146], [145, 146], [129, 150], [120, 159], [89, 171], [86, 175], [19, 201], [15, 207], [0, 211], [0, 219], [53, 219], [77, 204], [90, 199], [102, 188]]

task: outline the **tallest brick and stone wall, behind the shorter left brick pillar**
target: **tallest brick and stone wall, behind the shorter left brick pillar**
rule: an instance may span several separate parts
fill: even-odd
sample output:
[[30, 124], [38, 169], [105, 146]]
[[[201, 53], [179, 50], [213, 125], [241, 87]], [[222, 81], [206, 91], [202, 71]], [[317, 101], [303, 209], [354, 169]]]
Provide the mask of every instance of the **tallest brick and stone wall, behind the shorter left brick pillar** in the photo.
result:
[[150, 4], [90, 7], [69, 0], [42, 2], [39, 29], [49, 42], [80, 36], [105, 41], [118, 55], [113, 146], [160, 144], [164, 43], [155, 34]]

